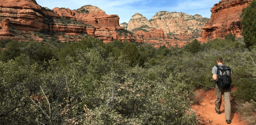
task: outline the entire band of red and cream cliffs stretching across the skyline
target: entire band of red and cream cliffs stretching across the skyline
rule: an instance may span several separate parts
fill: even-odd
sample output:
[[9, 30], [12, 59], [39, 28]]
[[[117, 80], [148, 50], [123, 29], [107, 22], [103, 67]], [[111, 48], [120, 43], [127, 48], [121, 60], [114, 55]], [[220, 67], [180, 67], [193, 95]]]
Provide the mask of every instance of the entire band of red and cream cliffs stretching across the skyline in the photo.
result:
[[15, 27], [21, 32], [48, 30], [73, 35], [87, 33], [104, 43], [127, 40], [153, 44], [156, 48], [162, 45], [183, 47], [194, 39], [207, 41], [228, 33], [240, 37], [240, 15], [251, 2], [222, 0], [212, 7], [210, 21], [201, 15], [175, 11], [159, 11], [148, 20], [135, 12], [128, 24], [119, 26], [118, 15], [107, 15], [92, 5], [77, 10], [58, 7], [50, 10], [38, 5], [35, 0], [3, 0], [0, 1], [0, 39], [15, 37], [17, 33], [12, 29]]

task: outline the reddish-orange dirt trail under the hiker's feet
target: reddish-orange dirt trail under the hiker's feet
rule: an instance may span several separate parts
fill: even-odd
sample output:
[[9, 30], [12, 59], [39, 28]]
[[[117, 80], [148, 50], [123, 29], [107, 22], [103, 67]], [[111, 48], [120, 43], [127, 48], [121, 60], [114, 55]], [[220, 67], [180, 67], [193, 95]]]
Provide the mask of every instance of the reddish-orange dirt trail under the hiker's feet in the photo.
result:
[[[233, 90], [232, 90], [233, 91]], [[214, 101], [216, 99], [215, 90], [196, 91], [196, 96], [202, 96], [203, 100], [200, 105], [194, 105], [192, 109], [195, 111], [197, 115], [200, 115], [199, 121], [202, 122], [203, 125], [228, 125], [225, 120], [225, 112], [224, 112], [224, 100], [222, 96], [222, 103], [220, 106], [220, 113], [217, 114], [214, 110], [215, 104]], [[241, 120], [241, 116], [235, 110], [235, 102], [231, 99], [231, 125], [246, 125], [245, 121]]]

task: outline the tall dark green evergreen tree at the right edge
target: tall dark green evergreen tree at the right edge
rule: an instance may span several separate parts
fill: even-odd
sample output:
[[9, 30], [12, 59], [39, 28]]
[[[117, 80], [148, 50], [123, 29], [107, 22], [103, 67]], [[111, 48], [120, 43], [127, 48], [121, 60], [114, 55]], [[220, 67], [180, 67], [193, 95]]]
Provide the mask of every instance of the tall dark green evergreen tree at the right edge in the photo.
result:
[[253, 0], [244, 11], [241, 24], [243, 26], [242, 35], [244, 36], [245, 45], [252, 50], [256, 45], [256, 0]]

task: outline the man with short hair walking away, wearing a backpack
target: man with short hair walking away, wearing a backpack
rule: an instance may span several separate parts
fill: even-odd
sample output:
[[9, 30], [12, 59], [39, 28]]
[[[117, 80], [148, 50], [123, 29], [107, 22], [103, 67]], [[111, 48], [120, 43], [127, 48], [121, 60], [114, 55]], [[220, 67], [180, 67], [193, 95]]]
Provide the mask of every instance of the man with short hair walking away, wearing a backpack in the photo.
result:
[[215, 85], [215, 111], [218, 114], [220, 113], [220, 105], [221, 105], [221, 96], [223, 95], [225, 101], [225, 119], [228, 124], [230, 124], [230, 113], [231, 113], [231, 105], [230, 105], [230, 95], [231, 95], [231, 80], [232, 72], [230, 67], [223, 65], [223, 59], [221, 57], [217, 58], [216, 66], [212, 67], [212, 78], [216, 81]]

